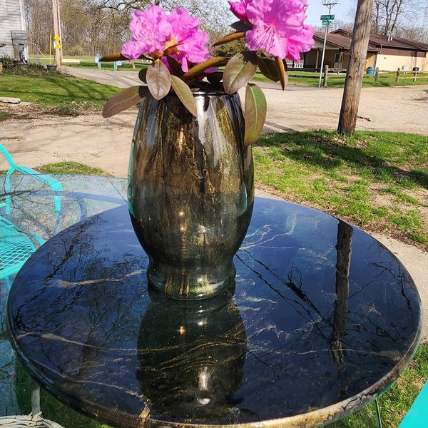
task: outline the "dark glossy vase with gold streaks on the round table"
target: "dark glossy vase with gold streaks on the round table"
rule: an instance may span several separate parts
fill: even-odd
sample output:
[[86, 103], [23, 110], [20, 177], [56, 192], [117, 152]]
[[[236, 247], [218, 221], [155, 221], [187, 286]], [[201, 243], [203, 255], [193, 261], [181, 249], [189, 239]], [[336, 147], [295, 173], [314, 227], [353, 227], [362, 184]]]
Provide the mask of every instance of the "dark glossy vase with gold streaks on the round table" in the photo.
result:
[[238, 95], [194, 93], [198, 117], [173, 94], [146, 97], [129, 165], [131, 221], [148, 282], [195, 300], [233, 286], [233, 256], [253, 213], [253, 156]]

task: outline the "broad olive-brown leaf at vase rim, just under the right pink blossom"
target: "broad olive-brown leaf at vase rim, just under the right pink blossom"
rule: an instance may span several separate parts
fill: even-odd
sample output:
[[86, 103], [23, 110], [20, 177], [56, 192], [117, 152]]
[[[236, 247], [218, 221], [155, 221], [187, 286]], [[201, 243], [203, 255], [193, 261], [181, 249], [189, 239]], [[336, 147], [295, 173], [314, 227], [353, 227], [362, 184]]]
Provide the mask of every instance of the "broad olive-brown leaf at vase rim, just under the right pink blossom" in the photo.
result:
[[254, 52], [241, 52], [230, 58], [223, 73], [226, 93], [238, 92], [253, 78], [256, 71], [257, 56]]

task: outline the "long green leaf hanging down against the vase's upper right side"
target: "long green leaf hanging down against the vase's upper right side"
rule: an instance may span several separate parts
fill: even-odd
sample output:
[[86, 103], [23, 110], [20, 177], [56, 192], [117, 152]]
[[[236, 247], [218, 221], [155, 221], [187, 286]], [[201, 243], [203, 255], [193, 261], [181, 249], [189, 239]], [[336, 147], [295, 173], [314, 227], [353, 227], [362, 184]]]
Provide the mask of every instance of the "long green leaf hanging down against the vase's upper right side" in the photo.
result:
[[266, 120], [267, 103], [265, 94], [257, 86], [248, 84], [245, 90], [245, 133], [244, 146], [250, 146], [254, 143], [263, 130], [263, 125]]

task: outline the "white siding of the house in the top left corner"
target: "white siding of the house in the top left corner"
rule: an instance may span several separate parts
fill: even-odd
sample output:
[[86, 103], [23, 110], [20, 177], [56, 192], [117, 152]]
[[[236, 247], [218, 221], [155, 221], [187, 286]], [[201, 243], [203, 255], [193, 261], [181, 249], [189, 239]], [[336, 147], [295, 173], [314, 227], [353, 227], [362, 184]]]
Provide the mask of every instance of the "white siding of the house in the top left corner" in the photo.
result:
[[[19, 59], [15, 58], [11, 31], [26, 31], [23, 0], [0, 0], [0, 44], [6, 44], [0, 48], [0, 57]], [[24, 54], [28, 58], [27, 46]]]

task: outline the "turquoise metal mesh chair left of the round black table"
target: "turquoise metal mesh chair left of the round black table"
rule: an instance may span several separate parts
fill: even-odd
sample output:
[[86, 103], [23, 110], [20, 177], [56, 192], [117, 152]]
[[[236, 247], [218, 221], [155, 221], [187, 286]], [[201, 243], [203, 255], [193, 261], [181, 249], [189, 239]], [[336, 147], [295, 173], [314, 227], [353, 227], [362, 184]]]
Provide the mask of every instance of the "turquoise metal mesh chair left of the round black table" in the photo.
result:
[[[31, 178], [38, 180], [41, 185], [46, 185], [54, 192], [61, 191], [62, 187], [58, 180], [50, 175], [39, 174], [26, 166], [16, 165], [6, 148], [1, 144], [0, 151], [10, 165], [4, 182], [4, 194], [0, 194], [0, 280], [6, 281], [6, 287], [9, 290], [11, 287], [9, 277], [16, 274], [34, 250], [44, 243], [44, 239], [39, 235], [28, 230], [24, 231], [14, 223], [11, 198], [13, 198], [16, 188], [13, 185], [12, 175], [19, 173], [31, 175]], [[61, 210], [59, 195], [54, 195], [53, 202], [55, 218], [58, 218]]]

